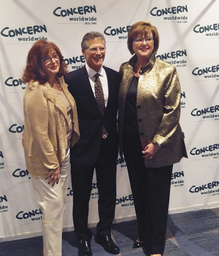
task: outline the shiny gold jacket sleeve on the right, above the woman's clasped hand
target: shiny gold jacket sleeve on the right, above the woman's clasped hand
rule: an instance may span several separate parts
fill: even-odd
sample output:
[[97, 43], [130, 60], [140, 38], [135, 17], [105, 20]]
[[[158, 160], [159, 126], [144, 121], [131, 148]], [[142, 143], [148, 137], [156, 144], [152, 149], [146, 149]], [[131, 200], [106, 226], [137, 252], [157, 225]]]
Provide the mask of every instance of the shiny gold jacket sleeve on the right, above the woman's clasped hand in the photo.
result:
[[180, 117], [180, 84], [176, 68], [169, 72], [165, 80], [164, 114], [160, 126], [152, 140], [153, 143], [168, 146], [172, 144], [171, 136], [179, 125]]

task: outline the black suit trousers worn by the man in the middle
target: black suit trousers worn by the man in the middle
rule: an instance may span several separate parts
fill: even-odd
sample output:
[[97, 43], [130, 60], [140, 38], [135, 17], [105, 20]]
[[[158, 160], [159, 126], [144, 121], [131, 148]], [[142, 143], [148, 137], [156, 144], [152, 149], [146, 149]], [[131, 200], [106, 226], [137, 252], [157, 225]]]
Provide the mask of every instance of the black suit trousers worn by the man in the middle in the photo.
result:
[[88, 229], [88, 212], [94, 168], [96, 169], [99, 192], [97, 233], [104, 236], [110, 236], [111, 234], [111, 226], [115, 217], [118, 148], [115, 148], [113, 158], [106, 159], [104, 157], [104, 147], [107, 146], [106, 140], [102, 139], [99, 157], [92, 166], [71, 163], [73, 221], [75, 232], [80, 240], [90, 241], [92, 237], [92, 232]]

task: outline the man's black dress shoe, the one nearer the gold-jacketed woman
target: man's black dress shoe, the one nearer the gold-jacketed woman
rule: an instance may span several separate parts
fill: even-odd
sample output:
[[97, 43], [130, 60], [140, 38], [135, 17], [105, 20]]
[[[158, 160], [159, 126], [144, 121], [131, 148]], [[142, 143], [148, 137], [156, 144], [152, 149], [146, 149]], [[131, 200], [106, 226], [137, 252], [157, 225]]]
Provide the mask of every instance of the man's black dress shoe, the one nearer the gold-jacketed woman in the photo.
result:
[[102, 245], [107, 253], [119, 254], [120, 250], [110, 236], [96, 235], [95, 242]]

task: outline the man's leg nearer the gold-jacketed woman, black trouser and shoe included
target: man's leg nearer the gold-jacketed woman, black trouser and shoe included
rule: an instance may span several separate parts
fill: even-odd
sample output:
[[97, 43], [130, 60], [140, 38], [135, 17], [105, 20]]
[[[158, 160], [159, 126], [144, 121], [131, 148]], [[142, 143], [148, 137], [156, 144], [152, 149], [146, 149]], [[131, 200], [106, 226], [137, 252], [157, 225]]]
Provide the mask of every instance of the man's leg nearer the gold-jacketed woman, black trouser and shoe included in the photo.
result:
[[118, 246], [112, 241], [111, 226], [115, 217], [115, 202], [116, 202], [116, 166], [118, 151], [117, 147], [111, 157], [104, 154], [107, 150], [104, 147], [108, 146], [107, 139], [102, 140], [101, 152], [96, 162], [96, 180], [99, 191], [98, 210], [99, 223], [96, 226], [97, 233], [95, 241], [104, 247], [104, 250], [118, 254], [120, 252]]

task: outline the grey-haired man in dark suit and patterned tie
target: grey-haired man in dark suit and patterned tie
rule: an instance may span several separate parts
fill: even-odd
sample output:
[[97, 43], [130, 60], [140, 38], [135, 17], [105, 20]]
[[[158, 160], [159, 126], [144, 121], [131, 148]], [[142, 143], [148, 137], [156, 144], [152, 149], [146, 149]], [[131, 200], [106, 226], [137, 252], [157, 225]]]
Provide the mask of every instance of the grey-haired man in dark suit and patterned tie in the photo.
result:
[[80, 139], [71, 148], [70, 155], [73, 220], [80, 239], [78, 255], [92, 255], [88, 209], [94, 168], [99, 191], [99, 223], [95, 241], [105, 251], [118, 254], [119, 248], [111, 238], [111, 225], [116, 200], [120, 74], [102, 65], [106, 42], [101, 33], [87, 33], [81, 48], [86, 64], [64, 76], [69, 92], [75, 98], [80, 130]]

